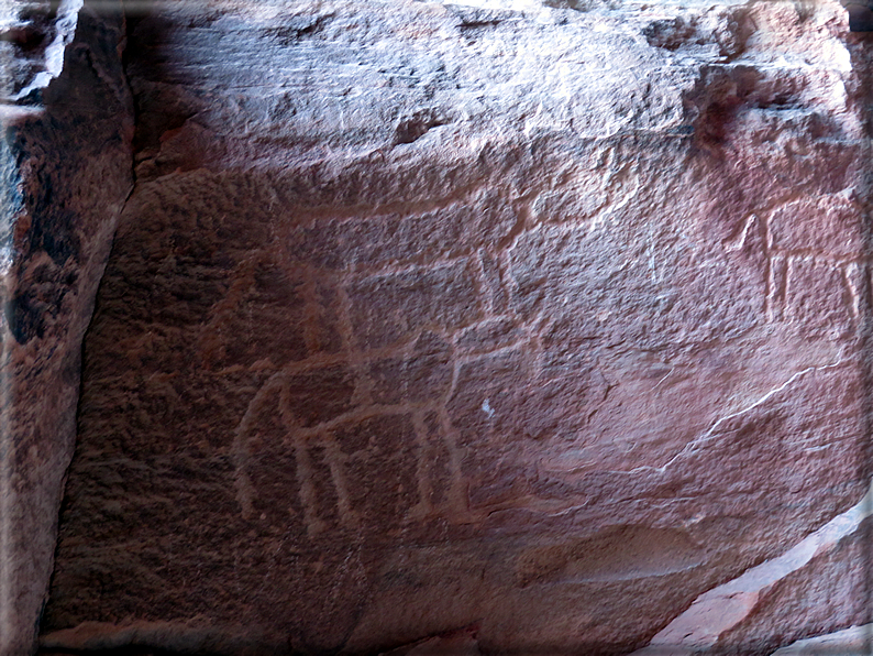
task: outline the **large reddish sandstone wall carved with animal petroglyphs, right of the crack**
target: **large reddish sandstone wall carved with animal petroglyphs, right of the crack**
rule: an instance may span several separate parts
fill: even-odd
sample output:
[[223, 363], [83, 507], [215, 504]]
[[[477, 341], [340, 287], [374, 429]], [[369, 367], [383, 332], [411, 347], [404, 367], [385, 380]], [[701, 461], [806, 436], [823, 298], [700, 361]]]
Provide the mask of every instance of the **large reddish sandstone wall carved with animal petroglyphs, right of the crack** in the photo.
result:
[[46, 648], [628, 653], [864, 495], [870, 47], [570, 4], [129, 19]]

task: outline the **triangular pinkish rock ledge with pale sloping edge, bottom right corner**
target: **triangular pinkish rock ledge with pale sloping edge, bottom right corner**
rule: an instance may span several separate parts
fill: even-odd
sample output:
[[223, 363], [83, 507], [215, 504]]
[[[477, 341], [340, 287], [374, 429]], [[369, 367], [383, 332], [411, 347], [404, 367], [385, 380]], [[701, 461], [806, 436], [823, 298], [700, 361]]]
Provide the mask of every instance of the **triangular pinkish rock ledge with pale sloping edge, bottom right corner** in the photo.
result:
[[[871, 513], [873, 488], [785, 554], [701, 594], [634, 656], [755, 653], [835, 624], [863, 622], [873, 614]], [[843, 652], [850, 653], [870, 650]]]

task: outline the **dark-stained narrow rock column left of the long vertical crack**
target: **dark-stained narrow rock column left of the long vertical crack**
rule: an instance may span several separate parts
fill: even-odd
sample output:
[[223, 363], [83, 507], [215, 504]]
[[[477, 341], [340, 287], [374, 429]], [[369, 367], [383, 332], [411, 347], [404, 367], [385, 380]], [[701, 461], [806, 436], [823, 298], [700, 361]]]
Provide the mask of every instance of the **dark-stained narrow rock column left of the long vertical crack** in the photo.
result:
[[81, 339], [132, 184], [123, 18], [81, 2], [0, 6], [0, 654], [35, 647]]

